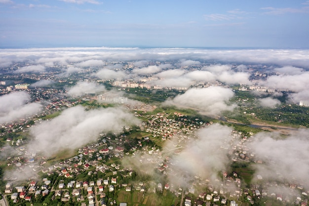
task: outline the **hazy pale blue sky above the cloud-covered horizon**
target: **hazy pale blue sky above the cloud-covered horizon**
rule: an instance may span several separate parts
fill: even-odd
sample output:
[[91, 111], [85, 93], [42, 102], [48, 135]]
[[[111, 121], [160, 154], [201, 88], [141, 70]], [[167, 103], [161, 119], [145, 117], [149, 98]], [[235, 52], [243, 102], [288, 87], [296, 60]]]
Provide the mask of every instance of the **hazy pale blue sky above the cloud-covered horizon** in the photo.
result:
[[0, 47], [309, 47], [309, 0], [0, 0]]

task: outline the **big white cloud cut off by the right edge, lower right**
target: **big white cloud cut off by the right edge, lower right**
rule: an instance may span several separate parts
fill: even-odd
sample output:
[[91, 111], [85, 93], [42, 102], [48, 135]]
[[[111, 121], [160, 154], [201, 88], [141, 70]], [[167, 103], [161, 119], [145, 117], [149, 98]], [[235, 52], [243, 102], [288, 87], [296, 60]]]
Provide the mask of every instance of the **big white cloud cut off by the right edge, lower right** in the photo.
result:
[[256, 153], [256, 174], [272, 181], [295, 180], [309, 187], [309, 142], [308, 129], [299, 129], [289, 137], [282, 138], [276, 133], [259, 133], [249, 146]]

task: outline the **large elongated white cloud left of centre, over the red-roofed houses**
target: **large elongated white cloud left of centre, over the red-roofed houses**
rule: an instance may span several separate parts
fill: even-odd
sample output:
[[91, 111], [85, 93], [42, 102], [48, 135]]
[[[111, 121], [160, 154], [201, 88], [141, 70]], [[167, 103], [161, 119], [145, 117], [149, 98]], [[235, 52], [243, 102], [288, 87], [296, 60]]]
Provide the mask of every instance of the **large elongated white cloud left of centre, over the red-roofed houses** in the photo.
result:
[[119, 132], [123, 126], [138, 123], [139, 120], [121, 108], [86, 111], [82, 106], [76, 106], [32, 127], [30, 133], [34, 139], [28, 147], [50, 156], [63, 149], [75, 150], [96, 140], [101, 132]]

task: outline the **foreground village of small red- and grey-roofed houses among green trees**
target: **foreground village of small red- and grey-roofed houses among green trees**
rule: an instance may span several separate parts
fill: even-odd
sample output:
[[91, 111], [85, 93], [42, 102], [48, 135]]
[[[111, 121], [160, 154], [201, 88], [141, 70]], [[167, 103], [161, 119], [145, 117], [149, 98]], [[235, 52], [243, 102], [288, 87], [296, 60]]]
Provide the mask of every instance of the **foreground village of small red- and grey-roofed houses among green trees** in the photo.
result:
[[[173, 165], [169, 162], [171, 156], [181, 153], [183, 148], [181, 145], [184, 145], [181, 142], [190, 141], [194, 130], [213, 123], [196, 118], [190, 119], [179, 112], [173, 114], [161, 112], [154, 115], [135, 112], [135, 114], [148, 119], [140, 125], [140, 130], [150, 134], [151, 138], [149, 136], [133, 140], [128, 138], [126, 134], [131, 132], [132, 128], [126, 128], [126, 131], [119, 135], [102, 133], [98, 142], [79, 148], [76, 156], [55, 163], [40, 156], [36, 151], [27, 151], [25, 145], [20, 143], [21, 146], [16, 148], [18, 155], [7, 157], [7, 165], [17, 169], [19, 175], [32, 170], [33, 176], [29, 177], [29, 182], [18, 181], [17, 177], [5, 180], [4, 194], [10, 205], [22, 202], [43, 202], [46, 205], [61, 202], [80, 206], [132, 205], [132, 202], [126, 201], [130, 199], [123, 198], [126, 193], [126, 196], [136, 196], [139, 202], [145, 205], [150, 201], [150, 198], [145, 197], [152, 193], [165, 196], [167, 193], [170, 194], [174, 197], [172, 205], [236, 206], [242, 202], [254, 205], [255, 201], [262, 197], [284, 203], [307, 205], [308, 191], [301, 184], [288, 183], [289, 192], [295, 194], [294, 199], [289, 199], [290, 196], [284, 197], [282, 194], [262, 188], [263, 184], [281, 187], [280, 184], [260, 182], [250, 184], [248, 188], [241, 175], [239, 177], [236, 172], [222, 171], [222, 178], [215, 179], [214, 182], [197, 176], [187, 177], [191, 185], [186, 188], [170, 184], [169, 175], [182, 175], [173, 170]], [[254, 153], [251, 153], [250, 148], [244, 144], [250, 141], [251, 135], [252, 133], [243, 134], [233, 130], [230, 141], [218, 149], [227, 150], [231, 162], [263, 164], [254, 158]], [[164, 148], [152, 140], [164, 143], [174, 138], [178, 144], [175, 148], [167, 148], [171, 151], [171, 156], [162, 157]], [[151, 163], [154, 165], [153, 169], [166, 178], [160, 182], [145, 178], [143, 175], [139, 176], [133, 168], [122, 165], [121, 160], [126, 157], [140, 158], [142, 165]], [[261, 181], [263, 179], [261, 175], [257, 178]]]

